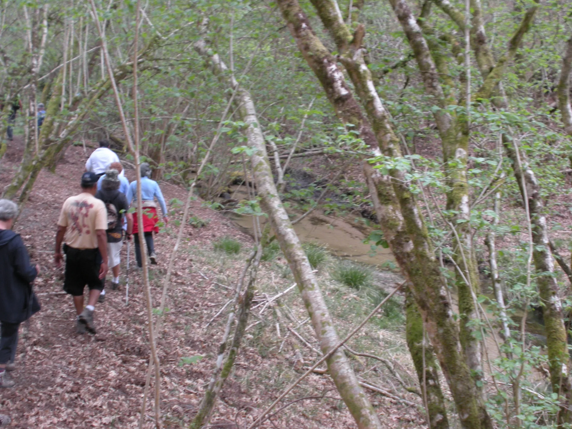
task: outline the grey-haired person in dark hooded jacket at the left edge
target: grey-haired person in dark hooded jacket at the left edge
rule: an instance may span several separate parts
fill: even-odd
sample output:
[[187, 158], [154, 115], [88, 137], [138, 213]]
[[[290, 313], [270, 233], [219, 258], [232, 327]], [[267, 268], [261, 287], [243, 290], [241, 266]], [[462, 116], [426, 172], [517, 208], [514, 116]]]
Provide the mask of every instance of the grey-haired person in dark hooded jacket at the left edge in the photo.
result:
[[18, 328], [39, 311], [31, 287], [39, 267], [30, 264], [22, 239], [11, 231], [17, 215], [14, 202], [0, 200], [0, 387], [14, 386], [7, 372], [15, 369]]

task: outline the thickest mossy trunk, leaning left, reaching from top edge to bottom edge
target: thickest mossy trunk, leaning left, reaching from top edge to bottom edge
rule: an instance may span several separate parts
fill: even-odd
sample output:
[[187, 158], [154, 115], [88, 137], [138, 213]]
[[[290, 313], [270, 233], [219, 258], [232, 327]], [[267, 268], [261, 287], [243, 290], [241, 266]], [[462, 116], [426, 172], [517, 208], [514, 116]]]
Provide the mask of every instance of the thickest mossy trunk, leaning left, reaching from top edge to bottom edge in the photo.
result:
[[[375, 148], [375, 145], [379, 145], [384, 154], [399, 156], [399, 146], [396, 145], [391, 128], [382, 132], [383, 118], [376, 121], [379, 128], [375, 129], [375, 133], [371, 130], [369, 121], [363, 117], [343, 74], [337, 68], [335, 58], [316, 37], [311, 23], [297, 1], [280, 0], [279, 6], [297, 46], [323, 86], [340, 120], [345, 124], [355, 125], [360, 137], [371, 147], [372, 153], [381, 153]], [[367, 86], [372, 85], [370, 82], [366, 78]], [[371, 98], [371, 104], [381, 104], [375, 89], [368, 94], [374, 97]], [[376, 137], [378, 131], [379, 138]], [[491, 420], [476, 390], [471, 371], [459, 352], [459, 328], [453, 317], [451, 304], [447, 299], [446, 284], [440, 275], [440, 267], [415, 198], [402, 181], [392, 180], [391, 176], [382, 176], [379, 170], [372, 169], [369, 164], [365, 165], [364, 173], [386, 240], [402, 272], [413, 285], [412, 292], [451, 388], [463, 427], [491, 428]]]

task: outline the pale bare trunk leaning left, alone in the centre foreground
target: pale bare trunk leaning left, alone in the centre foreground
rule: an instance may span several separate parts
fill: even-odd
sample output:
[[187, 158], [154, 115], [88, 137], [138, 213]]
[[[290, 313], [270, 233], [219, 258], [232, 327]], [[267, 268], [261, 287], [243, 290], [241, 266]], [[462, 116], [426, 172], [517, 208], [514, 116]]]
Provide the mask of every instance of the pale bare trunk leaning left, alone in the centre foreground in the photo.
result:
[[[339, 337], [325, 305], [316, 276], [308, 262], [308, 257], [292, 227], [288, 213], [276, 189], [266, 152], [264, 135], [256, 116], [255, 104], [246, 89], [237, 89], [239, 83], [234, 76], [227, 73], [228, 67], [221, 61], [219, 55], [209, 54], [204, 40], [198, 41], [195, 44], [195, 49], [207, 59], [213, 73], [219, 80], [237, 91], [235, 102], [237, 114], [245, 123], [244, 133], [247, 136], [248, 145], [255, 151], [251, 156], [251, 162], [257, 192], [261, 197], [261, 206], [268, 213], [272, 229], [296, 279], [304, 305], [311, 317], [321, 351], [325, 355], [339, 343]], [[362, 387], [360, 387], [358, 378], [356, 378], [344, 352], [337, 349], [326, 362], [328, 372], [358, 427], [381, 429], [382, 425], [378, 415], [364, 394]]]

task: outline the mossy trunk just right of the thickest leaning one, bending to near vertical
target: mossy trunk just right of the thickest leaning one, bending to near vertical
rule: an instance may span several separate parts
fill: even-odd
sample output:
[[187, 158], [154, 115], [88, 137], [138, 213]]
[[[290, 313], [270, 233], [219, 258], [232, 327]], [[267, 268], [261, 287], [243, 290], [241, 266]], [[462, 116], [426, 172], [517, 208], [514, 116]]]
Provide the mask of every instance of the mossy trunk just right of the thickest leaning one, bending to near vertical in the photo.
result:
[[[446, 93], [439, 80], [440, 74], [449, 76], [447, 60], [440, 53], [438, 43], [432, 42], [434, 35], [428, 34], [429, 42], [423, 35], [423, 23], [427, 33], [432, 29], [423, 17], [416, 20], [405, 0], [391, 0], [395, 14], [402, 25], [407, 40], [414, 51], [419, 71], [422, 74], [425, 92], [434, 99], [435, 122], [443, 148], [443, 165], [446, 177], [447, 210], [452, 213], [450, 224], [455, 228], [454, 260], [463, 271], [458, 275], [456, 285], [459, 296], [460, 340], [468, 366], [473, 371], [475, 383], [482, 386], [482, 347], [480, 341], [479, 312], [475, 294], [479, 293], [479, 275], [472, 243], [473, 231], [470, 226], [469, 186], [467, 181], [468, 124], [466, 114], [456, 114], [446, 108], [456, 105], [452, 92]], [[427, 10], [424, 10], [428, 14]], [[434, 58], [439, 61], [434, 61]], [[439, 66], [439, 67], [438, 67]], [[448, 83], [450, 86], [451, 83]], [[464, 97], [461, 97], [462, 99]], [[460, 112], [460, 110], [459, 110]], [[480, 387], [479, 387], [480, 389]]]

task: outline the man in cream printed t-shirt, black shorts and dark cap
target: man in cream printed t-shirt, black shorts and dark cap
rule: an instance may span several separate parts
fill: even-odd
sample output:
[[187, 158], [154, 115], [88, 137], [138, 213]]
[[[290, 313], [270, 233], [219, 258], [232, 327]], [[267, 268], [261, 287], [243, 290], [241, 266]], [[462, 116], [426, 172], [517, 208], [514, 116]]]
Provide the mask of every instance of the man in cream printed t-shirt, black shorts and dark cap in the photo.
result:
[[[107, 209], [95, 196], [97, 174], [85, 172], [81, 177], [82, 193], [67, 198], [63, 203], [55, 236], [54, 260], [62, 263], [61, 245], [66, 255], [63, 290], [73, 296], [77, 311], [77, 333], [96, 333], [93, 311], [104, 288], [108, 271]], [[84, 308], [84, 288], [89, 287], [88, 305]]]

